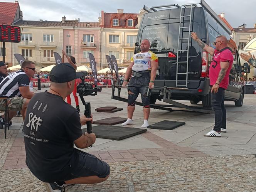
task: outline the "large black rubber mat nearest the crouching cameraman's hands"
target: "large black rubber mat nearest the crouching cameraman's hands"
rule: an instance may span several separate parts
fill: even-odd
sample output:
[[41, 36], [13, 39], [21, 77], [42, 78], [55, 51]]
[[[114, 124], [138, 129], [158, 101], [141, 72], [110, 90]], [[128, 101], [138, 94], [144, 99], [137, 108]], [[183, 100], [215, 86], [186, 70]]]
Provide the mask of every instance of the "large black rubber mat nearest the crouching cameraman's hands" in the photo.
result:
[[[84, 133], [86, 131], [86, 128], [82, 130]], [[121, 126], [114, 126], [114, 125], [93, 126], [93, 133], [95, 133], [97, 138], [112, 139], [112, 140], [123, 140], [131, 136], [145, 133], [146, 131], [147, 129], [121, 127]]]

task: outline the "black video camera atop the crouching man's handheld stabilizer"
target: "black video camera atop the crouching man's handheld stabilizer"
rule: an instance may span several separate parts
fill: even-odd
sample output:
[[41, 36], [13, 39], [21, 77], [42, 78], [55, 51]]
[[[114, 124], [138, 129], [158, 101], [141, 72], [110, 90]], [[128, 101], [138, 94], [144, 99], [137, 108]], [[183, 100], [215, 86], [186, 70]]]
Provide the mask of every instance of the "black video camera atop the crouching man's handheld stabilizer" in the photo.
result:
[[95, 85], [95, 87], [93, 88], [92, 84], [86, 83], [84, 82], [85, 76], [88, 75], [88, 72], [83, 72], [84, 76], [80, 77], [81, 79], [81, 83], [79, 83], [79, 85], [77, 86], [77, 91], [76, 93], [79, 94], [79, 96], [88, 96], [88, 95], [97, 95], [97, 92], [101, 92], [102, 88], [101, 86], [97, 86]]

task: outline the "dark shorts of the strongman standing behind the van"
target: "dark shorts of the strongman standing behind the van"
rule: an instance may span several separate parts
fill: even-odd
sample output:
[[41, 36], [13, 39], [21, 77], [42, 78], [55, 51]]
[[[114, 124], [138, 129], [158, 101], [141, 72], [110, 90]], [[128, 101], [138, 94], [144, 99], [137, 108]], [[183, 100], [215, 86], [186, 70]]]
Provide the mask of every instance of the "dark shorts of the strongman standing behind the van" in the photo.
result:
[[[150, 77], [131, 77], [129, 86], [136, 85], [136, 86], [148, 86], [150, 82]], [[139, 93], [144, 96], [147, 95], [148, 88], [147, 87], [128, 87], [128, 91], [131, 91], [136, 96], [139, 95]], [[151, 89], [148, 93], [148, 97], [150, 96]]]

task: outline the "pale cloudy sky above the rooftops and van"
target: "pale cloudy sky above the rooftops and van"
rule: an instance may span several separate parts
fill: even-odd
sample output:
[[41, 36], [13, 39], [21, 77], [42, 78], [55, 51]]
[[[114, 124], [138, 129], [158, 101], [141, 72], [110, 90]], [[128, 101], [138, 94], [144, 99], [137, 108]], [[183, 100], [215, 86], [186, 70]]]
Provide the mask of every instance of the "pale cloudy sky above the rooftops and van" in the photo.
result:
[[[158, 5], [197, 3], [200, 0], [19, 0], [23, 12], [23, 20], [61, 21], [80, 19], [81, 22], [98, 22], [101, 10], [115, 13], [124, 9], [124, 13], [138, 13], [143, 5], [147, 7]], [[1, 2], [14, 2], [2, 0]], [[205, 0], [218, 15], [225, 13], [226, 20], [232, 27], [246, 24], [253, 27], [256, 23], [256, 0]], [[216, 3], [218, 2], [218, 3]], [[246, 2], [246, 3], [242, 3]]]

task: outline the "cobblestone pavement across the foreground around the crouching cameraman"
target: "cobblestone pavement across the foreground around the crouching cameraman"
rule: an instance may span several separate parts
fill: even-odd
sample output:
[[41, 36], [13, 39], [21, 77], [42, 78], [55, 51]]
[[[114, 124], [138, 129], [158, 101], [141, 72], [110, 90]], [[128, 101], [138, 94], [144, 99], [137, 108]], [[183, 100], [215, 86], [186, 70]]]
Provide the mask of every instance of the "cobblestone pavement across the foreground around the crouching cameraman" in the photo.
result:
[[[101, 184], [70, 185], [68, 192], [256, 191], [253, 155], [109, 163]], [[0, 191], [39, 192], [45, 187], [27, 168], [0, 171]]]

